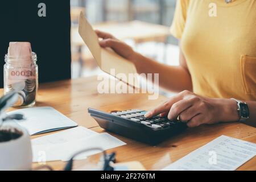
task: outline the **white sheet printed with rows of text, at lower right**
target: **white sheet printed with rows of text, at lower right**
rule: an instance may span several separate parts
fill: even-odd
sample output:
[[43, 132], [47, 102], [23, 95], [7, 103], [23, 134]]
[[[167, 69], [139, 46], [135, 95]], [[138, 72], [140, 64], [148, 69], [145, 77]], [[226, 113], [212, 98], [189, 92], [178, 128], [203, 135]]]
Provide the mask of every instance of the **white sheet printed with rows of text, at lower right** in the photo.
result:
[[234, 171], [255, 155], [255, 143], [221, 136], [163, 171]]

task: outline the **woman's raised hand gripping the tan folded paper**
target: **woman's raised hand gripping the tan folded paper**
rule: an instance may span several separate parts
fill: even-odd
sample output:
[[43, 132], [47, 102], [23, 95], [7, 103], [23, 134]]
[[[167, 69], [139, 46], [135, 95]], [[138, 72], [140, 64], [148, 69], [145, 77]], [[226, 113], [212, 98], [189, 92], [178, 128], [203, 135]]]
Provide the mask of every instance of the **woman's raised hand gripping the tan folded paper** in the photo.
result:
[[121, 42], [113, 35], [108, 34], [106, 32], [102, 32], [99, 30], [96, 30], [95, 32], [98, 35], [98, 38], [102, 38], [102, 40], [100, 40], [101, 47], [112, 48], [113, 51], [115, 51], [118, 55], [124, 57], [125, 59], [135, 61], [137, 52], [135, 52], [133, 48], [131, 48], [129, 45], [127, 45], [124, 42]]

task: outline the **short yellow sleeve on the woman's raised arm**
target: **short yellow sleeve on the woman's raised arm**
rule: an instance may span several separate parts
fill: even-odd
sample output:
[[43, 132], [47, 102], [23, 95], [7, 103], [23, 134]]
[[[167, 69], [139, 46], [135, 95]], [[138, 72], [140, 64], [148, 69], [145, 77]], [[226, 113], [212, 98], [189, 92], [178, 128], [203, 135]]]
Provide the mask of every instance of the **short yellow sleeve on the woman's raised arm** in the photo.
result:
[[174, 20], [171, 26], [171, 34], [177, 39], [181, 39], [183, 34], [187, 19], [188, 3], [189, 0], [177, 0], [176, 2]]

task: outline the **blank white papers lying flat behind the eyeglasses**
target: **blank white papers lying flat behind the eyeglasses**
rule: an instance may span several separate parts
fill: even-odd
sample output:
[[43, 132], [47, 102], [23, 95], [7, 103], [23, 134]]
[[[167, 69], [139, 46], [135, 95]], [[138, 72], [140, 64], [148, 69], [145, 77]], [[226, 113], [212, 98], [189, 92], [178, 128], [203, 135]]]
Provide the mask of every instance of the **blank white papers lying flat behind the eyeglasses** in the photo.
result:
[[[108, 150], [125, 144], [107, 133], [98, 134], [84, 127], [76, 127], [33, 139], [33, 162], [67, 161], [76, 152], [87, 148], [97, 147]], [[86, 159], [87, 156], [97, 154], [98, 152], [100, 151], [86, 152], [75, 159]]]

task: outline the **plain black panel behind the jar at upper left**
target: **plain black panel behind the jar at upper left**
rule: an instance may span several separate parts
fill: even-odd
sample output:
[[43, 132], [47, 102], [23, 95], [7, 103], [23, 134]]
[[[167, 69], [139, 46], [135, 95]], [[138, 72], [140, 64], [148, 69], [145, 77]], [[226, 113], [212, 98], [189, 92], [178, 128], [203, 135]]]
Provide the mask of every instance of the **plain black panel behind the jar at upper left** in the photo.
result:
[[[40, 17], [39, 3], [46, 5]], [[71, 19], [69, 0], [0, 1], [0, 87], [9, 42], [31, 42], [38, 55], [39, 82], [71, 78]]]

